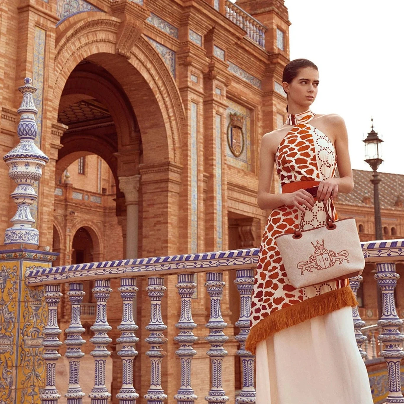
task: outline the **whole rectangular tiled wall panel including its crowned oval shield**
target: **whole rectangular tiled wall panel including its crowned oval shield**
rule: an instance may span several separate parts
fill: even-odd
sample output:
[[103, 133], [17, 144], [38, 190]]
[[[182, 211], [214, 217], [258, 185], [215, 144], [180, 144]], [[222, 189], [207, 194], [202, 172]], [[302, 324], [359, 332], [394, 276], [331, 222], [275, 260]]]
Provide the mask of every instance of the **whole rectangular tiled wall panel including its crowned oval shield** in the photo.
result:
[[227, 164], [249, 171], [251, 169], [250, 110], [227, 100], [225, 136]]

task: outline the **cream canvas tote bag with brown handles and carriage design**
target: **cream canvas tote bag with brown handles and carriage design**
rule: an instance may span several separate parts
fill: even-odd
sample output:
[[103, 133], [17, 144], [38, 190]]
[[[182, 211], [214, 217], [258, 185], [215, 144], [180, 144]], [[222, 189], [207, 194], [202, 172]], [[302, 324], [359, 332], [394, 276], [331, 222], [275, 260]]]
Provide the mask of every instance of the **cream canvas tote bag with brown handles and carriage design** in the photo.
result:
[[323, 203], [325, 226], [304, 230], [303, 213], [295, 233], [275, 238], [289, 282], [295, 288], [352, 278], [362, 274], [365, 267], [355, 219], [334, 221], [328, 205]]

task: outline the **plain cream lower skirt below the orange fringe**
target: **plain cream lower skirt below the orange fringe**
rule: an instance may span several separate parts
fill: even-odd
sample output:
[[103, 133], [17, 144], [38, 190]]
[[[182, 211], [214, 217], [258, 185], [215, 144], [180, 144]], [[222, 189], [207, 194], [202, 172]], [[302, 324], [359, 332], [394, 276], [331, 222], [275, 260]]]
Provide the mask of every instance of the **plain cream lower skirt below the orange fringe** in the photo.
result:
[[373, 403], [351, 307], [271, 335], [256, 361], [256, 404]]

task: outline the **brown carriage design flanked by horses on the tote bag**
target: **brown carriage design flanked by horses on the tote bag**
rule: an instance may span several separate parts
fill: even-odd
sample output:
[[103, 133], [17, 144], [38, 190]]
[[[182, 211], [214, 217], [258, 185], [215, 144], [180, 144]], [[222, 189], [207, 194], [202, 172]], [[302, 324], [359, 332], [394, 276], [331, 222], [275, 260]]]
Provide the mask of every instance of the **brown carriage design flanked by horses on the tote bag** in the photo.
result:
[[327, 250], [324, 248], [324, 240], [321, 243], [317, 240], [316, 245], [313, 243], [311, 245], [314, 247], [314, 254], [310, 255], [308, 261], [301, 261], [297, 264], [302, 275], [304, 275], [304, 271], [313, 272], [312, 269], [320, 271], [333, 267], [335, 263], [342, 264], [344, 260], [349, 262], [347, 250], [342, 250], [338, 254], [335, 251]]

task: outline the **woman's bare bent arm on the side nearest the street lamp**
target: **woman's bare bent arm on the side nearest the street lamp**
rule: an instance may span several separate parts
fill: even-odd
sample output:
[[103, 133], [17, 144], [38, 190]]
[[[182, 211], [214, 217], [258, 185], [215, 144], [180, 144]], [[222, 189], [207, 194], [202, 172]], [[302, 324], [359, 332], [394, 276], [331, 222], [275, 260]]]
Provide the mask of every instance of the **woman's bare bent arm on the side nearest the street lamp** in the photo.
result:
[[337, 167], [339, 178], [329, 178], [322, 181], [318, 186], [317, 199], [321, 202], [328, 198], [334, 199], [338, 192], [348, 194], [353, 189], [353, 176], [351, 160], [348, 151], [348, 133], [343, 118], [339, 115], [332, 115], [329, 119], [332, 125], [332, 133], [335, 139], [335, 151], [337, 153]]

